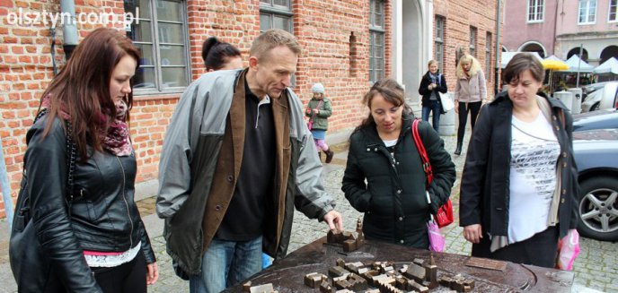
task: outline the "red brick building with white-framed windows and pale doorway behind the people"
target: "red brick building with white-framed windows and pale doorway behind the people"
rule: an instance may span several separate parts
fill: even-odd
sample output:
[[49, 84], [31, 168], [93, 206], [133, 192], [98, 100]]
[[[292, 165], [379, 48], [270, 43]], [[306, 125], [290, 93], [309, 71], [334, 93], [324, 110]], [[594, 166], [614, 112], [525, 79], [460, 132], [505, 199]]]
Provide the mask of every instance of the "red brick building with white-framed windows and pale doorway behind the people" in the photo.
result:
[[[66, 2], [75, 4], [75, 19], [65, 22], [76, 25], [79, 39], [97, 27], [114, 27], [125, 30], [142, 54], [130, 123], [137, 182], [157, 177], [166, 127], [182, 90], [205, 73], [201, 44], [210, 36], [236, 45], [246, 59], [260, 31], [292, 32], [304, 48], [293, 90], [306, 103], [313, 83], [324, 84], [333, 107], [329, 132], [358, 124], [366, 115], [360, 99], [381, 77], [404, 83], [416, 101], [420, 76], [434, 56], [441, 59], [451, 89], [455, 47], [475, 47], [481, 62], [493, 62], [495, 56], [483, 49], [487, 36], [495, 33], [495, 5], [481, 0]], [[0, 0], [0, 139], [13, 201], [22, 177], [25, 133], [40, 94], [65, 64], [65, 11], [60, 0]], [[441, 46], [434, 38], [437, 17]]]

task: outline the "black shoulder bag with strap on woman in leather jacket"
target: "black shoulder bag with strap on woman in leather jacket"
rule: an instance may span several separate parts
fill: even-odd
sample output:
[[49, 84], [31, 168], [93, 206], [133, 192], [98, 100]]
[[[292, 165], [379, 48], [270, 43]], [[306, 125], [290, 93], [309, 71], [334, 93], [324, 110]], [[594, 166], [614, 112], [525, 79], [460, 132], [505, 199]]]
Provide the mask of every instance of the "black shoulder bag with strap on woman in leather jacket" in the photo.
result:
[[[34, 124], [47, 113], [47, 109], [39, 112], [34, 119]], [[73, 141], [73, 129], [71, 124], [65, 120], [66, 125], [66, 170], [67, 170], [67, 192], [66, 205], [73, 200], [73, 172], [75, 171], [75, 142]], [[13, 277], [17, 282], [20, 292], [40, 292], [49, 286], [48, 276], [51, 272], [50, 263], [44, 254], [37, 231], [31, 220], [31, 201], [27, 191], [28, 172], [24, 168], [22, 173], [22, 184], [17, 197], [15, 207], [15, 217], [13, 218], [13, 228], [9, 242], [9, 259]]]

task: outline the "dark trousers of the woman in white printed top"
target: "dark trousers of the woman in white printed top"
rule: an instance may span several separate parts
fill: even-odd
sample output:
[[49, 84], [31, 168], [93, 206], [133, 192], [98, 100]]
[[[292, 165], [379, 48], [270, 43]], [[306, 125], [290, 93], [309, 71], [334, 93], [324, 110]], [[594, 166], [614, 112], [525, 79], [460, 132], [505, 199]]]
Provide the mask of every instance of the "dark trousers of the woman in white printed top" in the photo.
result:
[[490, 237], [485, 235], [481, 238], [481, 243], [472, 245], [472, 256], [554, 268], [558, 254], [558, 232], [558, 227], [550, 227], [531, 238], [502, 247], [493, 253], [490, 252]]

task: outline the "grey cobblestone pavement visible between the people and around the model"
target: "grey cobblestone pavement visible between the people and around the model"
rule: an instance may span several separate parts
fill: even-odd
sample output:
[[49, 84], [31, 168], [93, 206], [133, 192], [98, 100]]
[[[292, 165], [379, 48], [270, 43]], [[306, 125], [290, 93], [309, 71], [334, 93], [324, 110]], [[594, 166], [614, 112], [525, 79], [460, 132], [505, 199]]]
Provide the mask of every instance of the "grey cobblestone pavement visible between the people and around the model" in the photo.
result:
[[[452, 152], [455, 149], [455, 137], [444, 136], [446, 142], [446, 150]], [[335, 159], [331, 164], [325, 166], [323, 172], [324, 184], [329, 193], [337, 201], [337, 210], [344, 217], [344, 226], [346, 230], [356, 228], [356, 219], [361, 215], [350, 207], [343, 193], [340, 191], [341, 177], [345, 168], [346, 146], [343, 144], [332, 147], [336, 151]], [[465, 149], [464, 149], [465, 151]], [[464, 240], [463, 228], [457, 227], [458, 219], [458, 191], [459, 177], [464, 166], [464, 156], [454, 156], [455, 165], [457, 168], [458, 179], [455, 181], [453, 188], [453, 196], [451, 197], [455, 209], [455, 223], [447, 228], [443, 228], [442, 232], [446, 235], [446, 252], [451, 254], [470, 254], [472, 246]], [[138, 202], [142, 216], [146, 219], [156, 217], [154, 213], [154, 197], [148, 197], [145, 200]], [[6, 229], [5, 221], [0, 221], [0, 230]], [[156, 224], [160, 225], [160, 224]], [[146, 222], [146, 227], [148, 223]], [[305, 246], [313, 240], [326, 235], [327, 228], [325, 224], [316, 220], [308, 220], [305, 215], [296, 211], [294, 226], [292, 228], [293, 235], [291, 237], [289, 252], [296, 250], [301, 246]], [[15, 292], [15, 284], [13, 276], [8, 265], [8, 246], [6, 244], [6, 236], [2, 237], [0, 233], [0, 292]], [[165, 244], [159, 230], [152, 231], [149, 228], [149, 234], [152, 238], [152, 245], [158, 259], [160, 269], [160, 279], [156, 284], [149, 288], [150, 292], [188, 292], [189, 283], [176, 277], [172, 271], [172, 263], [170, 257], [165, 253]], [[575, 285], [573, 292], [618, 292], [618, 244], [611, 242], [601, 242], [587, 238], [581, 238], [581, 253], [574, 264], [575, 267]]]

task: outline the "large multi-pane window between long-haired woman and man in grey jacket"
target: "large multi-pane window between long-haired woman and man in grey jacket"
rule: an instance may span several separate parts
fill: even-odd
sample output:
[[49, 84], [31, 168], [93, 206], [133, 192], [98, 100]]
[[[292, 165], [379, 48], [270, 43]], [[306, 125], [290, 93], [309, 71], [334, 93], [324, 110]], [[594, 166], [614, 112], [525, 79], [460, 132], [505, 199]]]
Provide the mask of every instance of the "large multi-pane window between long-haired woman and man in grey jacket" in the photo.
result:
[[141, 56], [133, 77], [135, 94], [184, 90], [190, 82], [185, 3], [125, 0], [124, 7], [125, 12], [138, 17], [126, 28], [127, 37], [133, 40]]

